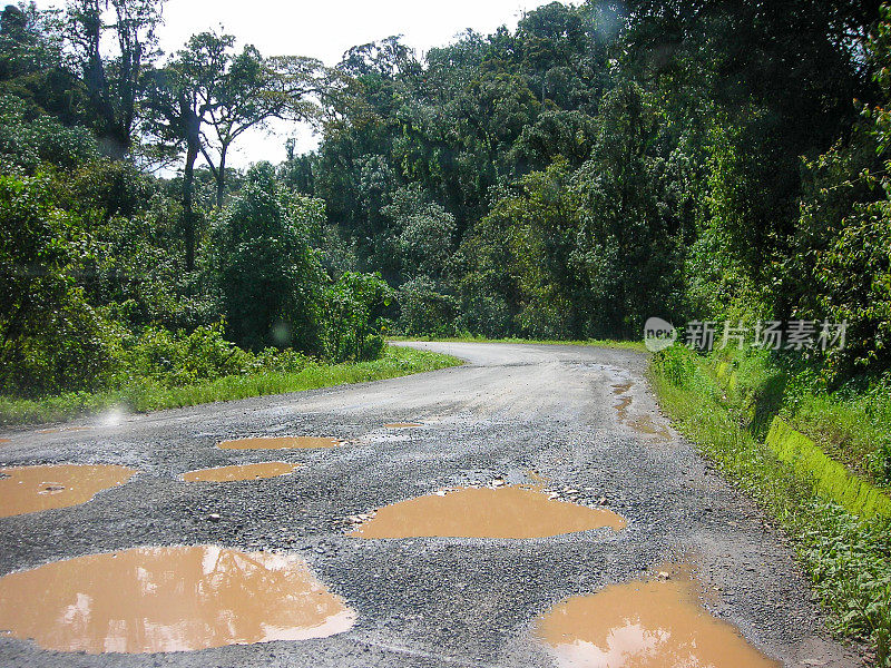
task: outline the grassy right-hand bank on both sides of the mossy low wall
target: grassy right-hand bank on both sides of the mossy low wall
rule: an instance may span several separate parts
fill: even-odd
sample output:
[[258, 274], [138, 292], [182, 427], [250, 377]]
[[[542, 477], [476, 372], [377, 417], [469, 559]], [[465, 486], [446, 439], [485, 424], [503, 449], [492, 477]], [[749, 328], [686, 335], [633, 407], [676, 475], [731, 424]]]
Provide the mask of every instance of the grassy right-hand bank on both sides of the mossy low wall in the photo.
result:
[[891, 521], [845, 510], [817, 483], [806, 456], [783, 462], [764, 443], [780, 415], [849, 471], [887, 489], [891, 399], [874, 389], [820, 394], [754, 351], [704, 358], [675, 346], [654, 356], [650, 380], [675, 426], [792, 539], [833, 630], [865, 641], [878, 665], [891, 666]]

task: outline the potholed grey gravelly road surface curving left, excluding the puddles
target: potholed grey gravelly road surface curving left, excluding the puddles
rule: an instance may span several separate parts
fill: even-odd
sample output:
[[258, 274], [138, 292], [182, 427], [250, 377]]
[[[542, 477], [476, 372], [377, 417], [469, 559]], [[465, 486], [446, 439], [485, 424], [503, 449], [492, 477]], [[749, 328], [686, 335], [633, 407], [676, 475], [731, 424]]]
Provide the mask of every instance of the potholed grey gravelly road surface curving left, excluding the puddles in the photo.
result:
[[[783, 537], [659, 414], [646, 357], [589, 346], [405, 343], [467, 361], [390, 381], [0, 433], [0, 465], [102, 463], [127, 484], [67, 509], [0, 519], [0, 574], [136, 546], [293, 552], [355, 610], [329, 638], [158, 655], [57, 654], [0, 638], [2, 666], [552, 665], [536, 616], [666, 561], [698, 570], [709, 611], [786, 666], [854, 666], [828, 639]], [[385, 423], [422, 422], [386, 430]], [[71, 426], [84, 428], [72, 430]], [[227, 451], [254, 435], [340, 448]], [[189, 484], [189, 470], [285, 461], [287, 478]], [[627, 519], [529, 540], [349, 537], [347, 518], [451, 485], [529, 482]], [[212, 515], [218, 515], [218, 519]]]

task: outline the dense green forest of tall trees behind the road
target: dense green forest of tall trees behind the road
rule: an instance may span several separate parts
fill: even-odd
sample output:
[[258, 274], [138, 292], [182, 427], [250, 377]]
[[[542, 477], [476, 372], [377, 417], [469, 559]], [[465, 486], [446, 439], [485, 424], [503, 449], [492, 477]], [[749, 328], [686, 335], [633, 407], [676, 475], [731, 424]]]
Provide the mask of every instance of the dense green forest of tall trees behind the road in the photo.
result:
[[[846, 322], [805, 351], [822, 382], [891, 367], [879, 2], [552, 2], [335, 67], [215, 32], [161, 53], [161, 23], [159, 0], [3, 10], [4, 395], [649, 316]], [[271, 119], [321, 146], [228, 167]]]

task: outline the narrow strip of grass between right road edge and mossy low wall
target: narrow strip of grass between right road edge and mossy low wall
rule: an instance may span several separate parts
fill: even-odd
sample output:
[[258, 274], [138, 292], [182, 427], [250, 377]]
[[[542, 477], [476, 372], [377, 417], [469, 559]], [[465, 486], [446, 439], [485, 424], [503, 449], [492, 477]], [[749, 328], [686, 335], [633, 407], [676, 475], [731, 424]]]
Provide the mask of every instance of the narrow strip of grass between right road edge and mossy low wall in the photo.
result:
[[746, 429], [751, 412], [726, 405], [725, 390], [691, 351], [655, 355], [649, 376], [678, 431], [790, 537], [832, 630], [868, 642], [877, 665], [891, 666], [891, 521], [865, 521], [817, 497]]

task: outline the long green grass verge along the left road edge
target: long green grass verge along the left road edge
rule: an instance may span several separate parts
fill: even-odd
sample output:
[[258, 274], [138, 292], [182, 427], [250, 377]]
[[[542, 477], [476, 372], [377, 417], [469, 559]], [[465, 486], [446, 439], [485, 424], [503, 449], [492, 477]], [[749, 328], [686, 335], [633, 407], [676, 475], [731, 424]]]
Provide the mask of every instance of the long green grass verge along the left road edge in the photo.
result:
[[112, 392], [76, 392], [38, 401], [0, 396], [0, 424], [35, 424], [70, 420], [111, 407], [136, 412], [194, 406], [215, 401], [229, 401], [331, 387], [346, 383], [380, 381], [396, 376], [434, 371], [461, 364], [457, 357], [428, 351], [388, 346], [385, 353], [371, 362], [343, 364], [313, 363], [294, 373], [265, 372], [225, 376], [183, 387], [164, 387], [143, 381]]

